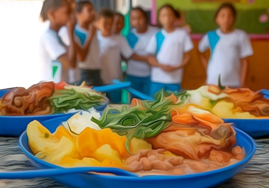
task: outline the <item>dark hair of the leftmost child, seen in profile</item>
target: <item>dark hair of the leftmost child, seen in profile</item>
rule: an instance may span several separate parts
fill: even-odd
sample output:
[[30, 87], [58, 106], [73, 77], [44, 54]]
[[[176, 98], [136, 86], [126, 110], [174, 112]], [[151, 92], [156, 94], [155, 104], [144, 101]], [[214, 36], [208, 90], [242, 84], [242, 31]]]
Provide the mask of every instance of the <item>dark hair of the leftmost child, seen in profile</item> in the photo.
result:
[[46, 21], [48, 19], [48, 12], [50, 10], [57, 10], [62, 2], [65, 0], [45, 0], [43, 2], [43, 6], [40, 12], [40, 16], [43, 19], [43, 21]]

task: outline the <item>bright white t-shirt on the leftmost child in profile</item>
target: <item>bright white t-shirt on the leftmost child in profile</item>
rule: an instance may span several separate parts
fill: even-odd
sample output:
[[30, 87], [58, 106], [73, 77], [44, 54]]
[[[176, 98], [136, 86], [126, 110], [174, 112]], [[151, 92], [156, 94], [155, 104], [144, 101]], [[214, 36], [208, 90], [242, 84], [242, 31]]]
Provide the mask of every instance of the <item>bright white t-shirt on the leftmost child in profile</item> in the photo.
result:
[[[53, 61], [58, 63], [57, 59], [67, 53], [67, 49], [63, 44], [62, 40], [56, 33], [56, 31], [52, 29], [47, 29], [39, 41], [39, 50], [40, 50], [40, 62], [41, 62], [41, 70], [42, 70], [42, 80], [43, 81], [55, 81], [59, 82], [61, 79], [56, 78], [53, 80]], [[60, 68], [61, 66], [59, 66]], [[60, 70], [61, 71], [61, 70]]]

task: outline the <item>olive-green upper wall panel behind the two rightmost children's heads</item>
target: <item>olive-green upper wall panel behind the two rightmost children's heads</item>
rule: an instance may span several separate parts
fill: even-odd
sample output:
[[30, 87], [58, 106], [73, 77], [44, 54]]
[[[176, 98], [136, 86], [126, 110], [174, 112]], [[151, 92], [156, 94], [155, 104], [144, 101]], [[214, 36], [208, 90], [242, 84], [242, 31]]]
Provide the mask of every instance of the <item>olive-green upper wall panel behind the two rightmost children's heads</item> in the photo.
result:
[[[247, 33], [265, 34], [269, 33], [269, 21], [261, 23], [261, 15], [268, 15], [268, 0], [256, 0], [252, 4], [249, 0], [240, 0], [234, 3], [237, 10], [235, 27], [244, 29]], [[217, 8], [222, 2], [194, 2], [194, 0], [156, 0], [157, 11], [164, 4], [171, 4], [185, 14], [185, 19], [192, 27], [192, 33], [205, 33], [216, 29], [214, 16]]]

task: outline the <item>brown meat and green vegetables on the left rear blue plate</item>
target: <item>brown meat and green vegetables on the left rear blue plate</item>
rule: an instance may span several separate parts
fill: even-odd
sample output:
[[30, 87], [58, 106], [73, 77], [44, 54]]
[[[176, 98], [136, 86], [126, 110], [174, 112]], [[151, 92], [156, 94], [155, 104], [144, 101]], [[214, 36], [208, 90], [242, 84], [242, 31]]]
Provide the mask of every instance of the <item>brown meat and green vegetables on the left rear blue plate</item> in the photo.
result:
[[88, 110], [107, 103], [90, 87], [70, 86], [65, 82], [40, 82], [29, 89], [16, 88], [0, 99], [0, 115], [31, 116]]

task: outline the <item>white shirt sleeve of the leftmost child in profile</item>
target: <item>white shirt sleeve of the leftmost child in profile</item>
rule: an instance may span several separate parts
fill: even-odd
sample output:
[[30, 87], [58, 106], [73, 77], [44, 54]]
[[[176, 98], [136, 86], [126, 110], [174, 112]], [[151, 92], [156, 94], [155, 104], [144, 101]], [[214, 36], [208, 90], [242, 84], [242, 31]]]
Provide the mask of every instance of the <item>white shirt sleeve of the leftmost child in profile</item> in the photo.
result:
[[43, 40], [45, 50], [48, 52], [51, 60], [57, 60], [61, 55], [66, 54], [67, 50], [59, 39], [52, 35], [47, 35]]

